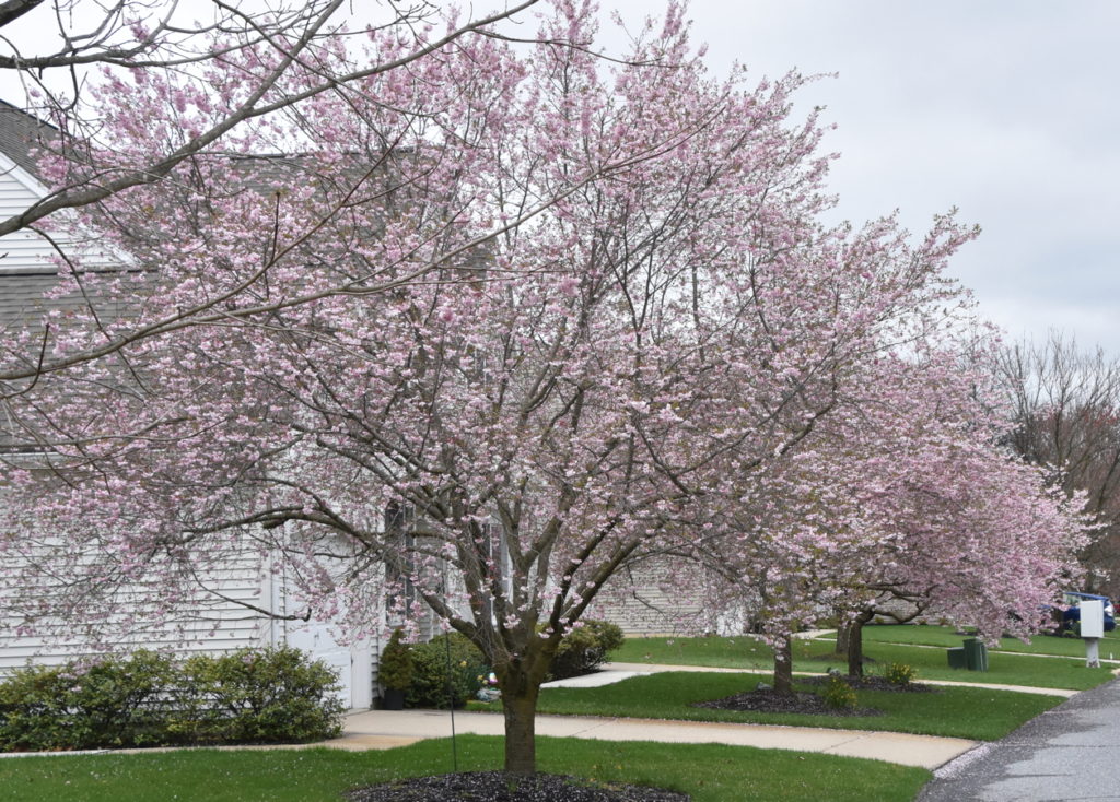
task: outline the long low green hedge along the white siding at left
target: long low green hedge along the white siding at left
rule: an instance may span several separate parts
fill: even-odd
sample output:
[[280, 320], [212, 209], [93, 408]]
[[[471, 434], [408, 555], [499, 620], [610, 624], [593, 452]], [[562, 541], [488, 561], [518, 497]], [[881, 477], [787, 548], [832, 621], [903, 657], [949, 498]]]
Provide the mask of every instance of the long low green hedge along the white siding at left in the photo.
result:
[[289, 648], [29, 667], [0, 682], [0, 751], [319, 740], [342, 732], [337, 690]]

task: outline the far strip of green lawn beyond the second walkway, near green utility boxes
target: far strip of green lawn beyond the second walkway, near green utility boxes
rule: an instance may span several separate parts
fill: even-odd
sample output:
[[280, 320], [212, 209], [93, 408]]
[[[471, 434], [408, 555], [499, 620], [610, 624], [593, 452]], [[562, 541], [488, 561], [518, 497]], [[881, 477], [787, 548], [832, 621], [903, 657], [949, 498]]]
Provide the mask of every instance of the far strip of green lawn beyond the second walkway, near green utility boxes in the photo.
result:
[[[888, 628], [868, 628], [879, 630]], [[905, 628], [889, 628], [905, 629]], [[918, 631], [932, 630], [915, 638], [942, 639], [940, 628], [909, 628]], [[1060, 640], [1060, 639], [1055, 639]], [[946, 639], [946, 644], [959, 645], [961, 639]], [[1109, 643], [1101, 651], [1108, 653]], [[793, 667], [795, 671], [822, 672], [828, 668], [846, 667], [843, 657], [833, 653], [834, 638], [794, 642]], [[1120, 648], [1117, 649], [1120, 652]], [[890, 662], [904, 662], [917, 669], [918, 679], [944, 679], [969, 682], [992, 682], [1001, 685], [1024, 685], [1038, 688], [1067, 688], [1084, 690], [1094, 688], [1112, 679], [1107, 668], [1089, 669], [1082, 660], [1060, 660], [1032, 657], [1029, 654], [989, 653], [984, 673], [949, 668], [945, 652], [940, 649], [896, 645], [867, 638], [864, 652], [875, 662], [867, 670], [875, 673]], [[772, 652], [768, 647], [748, 635], [734, 638], [629, 638], [623, 647], [610, 654], [618, 662], [669, 663], [676, 666], [712, 666], [719, 668], [773, 669]]]

